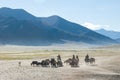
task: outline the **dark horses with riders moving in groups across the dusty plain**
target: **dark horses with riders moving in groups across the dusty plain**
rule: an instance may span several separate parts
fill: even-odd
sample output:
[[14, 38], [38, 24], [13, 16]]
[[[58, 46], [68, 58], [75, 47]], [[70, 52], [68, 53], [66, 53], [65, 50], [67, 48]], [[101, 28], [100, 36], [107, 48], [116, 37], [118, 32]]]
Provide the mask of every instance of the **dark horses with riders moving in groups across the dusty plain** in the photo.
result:
[[[95, 63], [95, 58], [89, 58], [89, 55], [87, 54], [85, 56], [85, 62], [87, 64], [93, 64]], [[67, 60], [64, 61], [64, 63], [69, 64], [71, 67], [79, 67], [79, 57], [78, 55], [73, 55], [72, 58], [69, 58]], [[55, 58], [51, 58], [51, 59], [45, 59], [42, 60], [41, 62], [39, 61], [32, 61], [31, 66], [42, 66], [42, 67], [63, 67], [63, 62], [61, 59], [61, 56], [58, 55], [57, 56], [57, 60], [55, 60]]]

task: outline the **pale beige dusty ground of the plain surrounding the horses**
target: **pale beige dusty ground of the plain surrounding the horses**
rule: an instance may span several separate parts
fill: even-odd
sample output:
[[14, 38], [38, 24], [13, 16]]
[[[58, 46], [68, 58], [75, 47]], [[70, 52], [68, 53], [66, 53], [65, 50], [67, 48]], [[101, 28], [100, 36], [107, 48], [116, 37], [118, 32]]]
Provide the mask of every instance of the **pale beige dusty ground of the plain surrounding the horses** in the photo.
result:
[[[33, 55], [43, 52], [44, 54], [51, 54], [42, 55], [42, 57], [41, 55]], [[1, 51], [0, 56], [4, 56], [4, 58], [0, 57], [0, 80], [120, 80], [120, 50], [118, 49], [48, 50], [41, 52], [34, 50], [34, 53], [31, 53], [4, 53]], [[72, 57], [72, 54], [79, 55], [80, 66], [72, 68], [64, 64], [64, 67], [61, 68], [43, 68], [30, 65], [33, 60], [40, 61], [45, 58], [56, 57], [60, 53], [63, 61]], [[86, 54], [95, 57], [96, 63], [85, 64], [84, 56]], [[8, 56], [16, 57], [19, 55], [22, 55], [21, 57], [30, 55], [30, 57], [29, 59], [20, 59], [19, 57], [10, 60], [8, 58]], [[21, 62], [21, 66], [18, 65], [18, 62]]]

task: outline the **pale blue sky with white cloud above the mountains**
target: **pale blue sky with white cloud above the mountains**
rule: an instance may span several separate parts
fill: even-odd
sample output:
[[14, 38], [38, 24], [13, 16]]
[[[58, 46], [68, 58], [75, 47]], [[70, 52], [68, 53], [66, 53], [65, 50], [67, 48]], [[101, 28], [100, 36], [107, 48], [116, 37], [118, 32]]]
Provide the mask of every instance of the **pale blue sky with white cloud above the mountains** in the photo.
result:
[[0, 0], [0, 7], [24, 9], [37, 17], [58, 15], [92, 30], [120, 31], [120, 0]]

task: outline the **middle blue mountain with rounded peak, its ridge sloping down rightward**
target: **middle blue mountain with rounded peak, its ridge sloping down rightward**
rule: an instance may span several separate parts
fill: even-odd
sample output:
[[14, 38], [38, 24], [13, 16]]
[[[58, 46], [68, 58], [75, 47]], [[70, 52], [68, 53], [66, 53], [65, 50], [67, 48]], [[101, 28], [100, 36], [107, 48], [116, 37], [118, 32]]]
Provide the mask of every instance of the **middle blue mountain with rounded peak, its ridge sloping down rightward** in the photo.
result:
[[101, 34], [94, 32], [82, 25], [67, 21], [56, 15], [50, 16], [47, 18], [41, 18], [41, 20], [44, 24], [47, 24], [58, 30], [64, 31], [64, 32], [72, 34], [72, 35], [78, 35], [84, 41], [87, 41], [87, 42], [89, 42], [91, 40], [92, 43], [96, 43], [96, 42], [99, 43], [101, 40], [101, 42], [104, 43], [106, 40], [110, 39], [106, 36], [103, 36]]

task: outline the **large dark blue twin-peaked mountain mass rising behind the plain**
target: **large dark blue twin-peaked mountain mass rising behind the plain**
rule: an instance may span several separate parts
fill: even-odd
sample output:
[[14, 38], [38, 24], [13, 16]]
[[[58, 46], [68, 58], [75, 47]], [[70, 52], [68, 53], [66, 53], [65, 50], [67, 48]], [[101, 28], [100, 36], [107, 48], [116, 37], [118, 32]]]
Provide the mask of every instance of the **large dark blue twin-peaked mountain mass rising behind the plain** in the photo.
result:
[[64, 40], [88, 44], [116, 43], [59, 16], [35, 17], [23, 9], [0, 8], [1, 44], [50, 45]]

